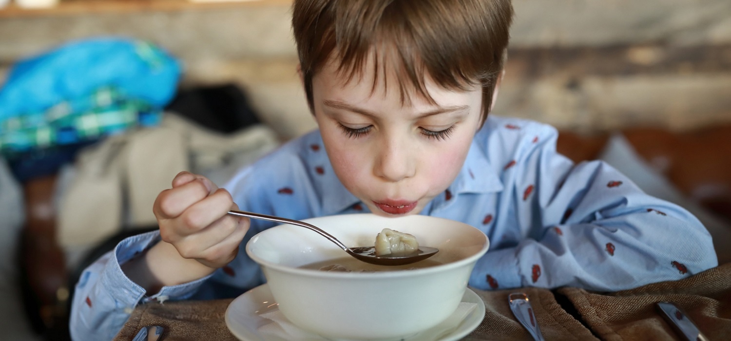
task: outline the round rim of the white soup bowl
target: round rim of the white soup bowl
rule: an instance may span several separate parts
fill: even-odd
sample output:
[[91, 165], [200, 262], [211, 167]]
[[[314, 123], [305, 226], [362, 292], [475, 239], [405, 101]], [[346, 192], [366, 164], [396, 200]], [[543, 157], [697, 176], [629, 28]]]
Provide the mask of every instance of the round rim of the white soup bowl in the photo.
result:
[[[373, 213], [355, 213], [355, 214], [343, 214], [343, 215], [374, 215]], [[308, 218], [303, 219], [304, 222], [310, 222], [314, 219], [318, 218], [326, 218], [326, 217], [334, 217], [334, 216], [341, 216], [341, 215], [323, 215], [321, 217], [314, 217], [314, 218]], [[260, 265], [260, 267], [270, 268], [270, 269], [276, 269], [280, 272], [286, 272], [292, 275], [304, 275], [306, 277], [324, 277], [324, 278], [338, 278], [338, 279], [357, 279], [357, 280], [371, 280], [371, 279], [382, 279], [382, 278], [392, 278], [392, 277], [413, 277], [415, 275], [429, 275], [433, 272], [443, 272], [448, 271], [450, 269], [456, 269], [459, 267], [463, 267], [470, 263], [476, 263], [477, 259], [481, 258], [485, 255], [485, 253], [488, 252], [488, 249], [490, 248], [490, 239], [488, 236], [482, 232], [480, 229], [477, 229], [474, 226], [469, 225], [468, 223], [463, 223], [461, 221], [455, 221], [452, 219], [447, 218], [441, 218], [441, 217], [433, 217], [431, 215], [420, 215], [422, 217], [429, 217], [429, 218], [435, 218], [435, 219], [442, 219], [447, 221], [454, 221], [457, 223], [461, 223], [465, 226], [469, 226], [471, 229], [475, 229], [480, 232], [480, 236], [484, 238], [484, 241], [482, 242], [482, 248], [478, 250], [476, 253], [474, 253], [471, 256], [468, 256], [466, 258], [462, 258], [458, 261], [451, 261], [449, 263], [445, 264], [439, 264], [435, 265], [433, 267], [425, 267], [420, 269], [412, 269], [409, 271], [384, 271], [384, 272], [332, 272], [332, 271], [319, 271], [315, 269], [302, 269], [298, 267], [289, 267], [287, 265], [281, 265], [277, 264], [271, 261], [267, 261], [265, 259], [260, 258], [259, 256], [256, 256], [253, 251], [251, 251], [251, 245], [256, 242], [257, 239], [260, 238], [260, 234], [265, 233], [266, 231], [270, 229], [275, 229], [279, 226], [287, 226], [288, 224], [280, 224], [276, 226], [272, 226], [269, 229], [265, 229], [264, 231], [260, 231], [259, 233], [255, 234], [254, 237], [251, 237], [249, 242], [246, 242], [246, 254], [251, 258], [252, 261], [256, 262]], [[338, 248], [339, 249], [339, 248]], [[344, 257], [350, 257], [345, 251], [343, 251]]]

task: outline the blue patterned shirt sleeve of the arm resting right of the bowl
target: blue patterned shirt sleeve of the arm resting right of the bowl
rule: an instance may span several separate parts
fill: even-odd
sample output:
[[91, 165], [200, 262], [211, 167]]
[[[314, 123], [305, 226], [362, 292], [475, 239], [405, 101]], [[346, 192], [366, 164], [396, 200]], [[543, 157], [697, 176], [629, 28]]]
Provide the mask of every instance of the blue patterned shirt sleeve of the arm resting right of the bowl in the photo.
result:
[[501, 213], [522, 238], [485, 254], [472, 286], [618, 291], [718, 265], [697, 218], [644, 194], [602, 161], [573, 164], [556, 153], [557, 137], [543, 127], [519, 142], [515, 166], [504, 175]]

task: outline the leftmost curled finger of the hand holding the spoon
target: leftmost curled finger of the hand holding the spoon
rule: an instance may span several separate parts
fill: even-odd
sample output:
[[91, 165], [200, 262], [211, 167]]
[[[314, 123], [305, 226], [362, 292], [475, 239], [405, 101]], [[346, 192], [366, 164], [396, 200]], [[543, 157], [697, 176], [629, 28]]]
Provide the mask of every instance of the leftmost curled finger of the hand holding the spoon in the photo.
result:
[[188, 207], [208, 197], [208, 193], [208, 187], [201, 180], [164, 190], [157, 196], [153, 212], [159, 219], [177, 218]]

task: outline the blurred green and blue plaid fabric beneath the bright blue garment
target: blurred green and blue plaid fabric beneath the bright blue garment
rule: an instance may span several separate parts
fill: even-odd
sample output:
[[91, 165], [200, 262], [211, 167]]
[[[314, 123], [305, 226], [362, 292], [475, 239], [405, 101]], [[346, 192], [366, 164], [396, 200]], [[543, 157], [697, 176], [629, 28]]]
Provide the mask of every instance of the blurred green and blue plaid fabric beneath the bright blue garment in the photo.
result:
[[156, 126], [161, 118], [162, 112], [146, 101], [126, 98], [115, 88], [100, 88], [45, 112], [0, 121], [0, 153], [12, 156], [34, 148], [87, 142], [135, 126]]

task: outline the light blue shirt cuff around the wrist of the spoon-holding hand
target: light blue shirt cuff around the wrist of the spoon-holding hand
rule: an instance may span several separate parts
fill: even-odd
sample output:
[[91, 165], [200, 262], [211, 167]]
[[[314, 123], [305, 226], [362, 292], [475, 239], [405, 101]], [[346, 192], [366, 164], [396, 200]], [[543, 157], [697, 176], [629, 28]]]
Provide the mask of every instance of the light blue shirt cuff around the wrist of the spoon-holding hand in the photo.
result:
[[130, 280], [122, 271], [121, 264], [159, 241], [159, 231], [151, 231], [128, 237], [119, 242], [114, 249], [107, 267], [102, 272], [101, 283], [105, 288], [109, 288], [110, 296], [122, 307], [135, 307], [141, 300], [148, 302], [157, 299], [159, 302], [164, 302], [167, 299], [186, 299], [195, 294], [200, 285], [213, 275], [177, 286], [164, 286], [157, 294], [145, 297], [145, 288]]

